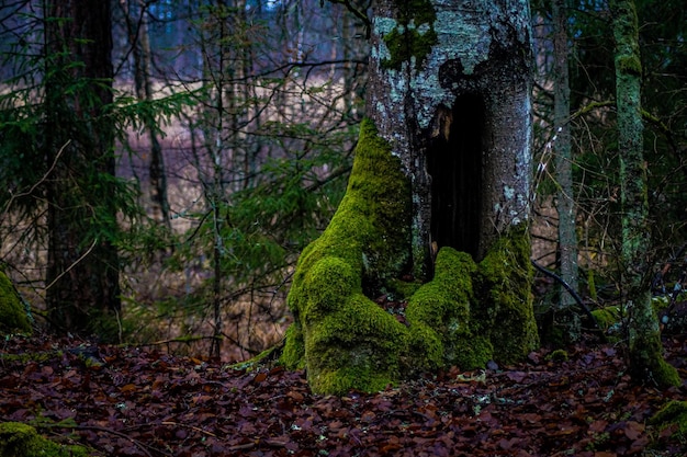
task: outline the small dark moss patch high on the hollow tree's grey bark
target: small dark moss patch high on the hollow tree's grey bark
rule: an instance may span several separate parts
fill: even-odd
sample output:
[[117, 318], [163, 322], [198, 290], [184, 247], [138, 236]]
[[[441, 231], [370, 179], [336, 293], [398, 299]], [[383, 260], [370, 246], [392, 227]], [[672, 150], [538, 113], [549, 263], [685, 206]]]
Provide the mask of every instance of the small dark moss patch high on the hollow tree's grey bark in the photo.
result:
[[398, 25], [383, 37], [391, 58], [382, 60], [382, 67], [399, 70], [403, 62], [415, 59], [415, 68], [420, 69], [437, 44], [435, 9], [429, 0], [404, 0], [397, 8]]

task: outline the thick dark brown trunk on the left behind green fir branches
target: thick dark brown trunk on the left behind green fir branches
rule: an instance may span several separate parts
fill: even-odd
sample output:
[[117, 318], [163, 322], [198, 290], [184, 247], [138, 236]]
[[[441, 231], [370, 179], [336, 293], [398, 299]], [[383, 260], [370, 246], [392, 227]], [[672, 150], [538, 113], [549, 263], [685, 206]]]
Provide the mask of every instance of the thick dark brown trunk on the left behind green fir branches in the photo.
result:
[[48, 2], [46, 10], [46, 301], [56, 330], [114, 339], [120, 311], [112, 121], [110, 3]]

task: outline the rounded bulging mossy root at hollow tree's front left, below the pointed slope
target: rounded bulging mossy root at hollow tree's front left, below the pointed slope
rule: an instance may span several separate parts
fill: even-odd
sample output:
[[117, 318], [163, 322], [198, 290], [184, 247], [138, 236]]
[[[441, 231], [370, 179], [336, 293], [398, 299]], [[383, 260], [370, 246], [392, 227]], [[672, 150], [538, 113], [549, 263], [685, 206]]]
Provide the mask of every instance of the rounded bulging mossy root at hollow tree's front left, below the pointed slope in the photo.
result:
[[304, 366], [315, 393], [371, 392], [396, 382], [406, 328], [362, 294], [341, 259], [323, 258], [306, 279], [296, 288], [301, 319], [289, 330], [282, 362]]

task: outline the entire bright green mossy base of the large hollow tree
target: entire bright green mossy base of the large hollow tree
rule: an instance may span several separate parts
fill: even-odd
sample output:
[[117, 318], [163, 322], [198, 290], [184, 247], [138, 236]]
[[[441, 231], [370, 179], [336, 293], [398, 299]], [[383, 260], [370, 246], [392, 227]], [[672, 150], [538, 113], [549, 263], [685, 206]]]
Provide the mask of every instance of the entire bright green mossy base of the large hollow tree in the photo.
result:
[[457, 365], [511, 363], [538, 344], [529, 238], [513, 226], [477, 264], [442, 248], [433, 278], [408, 299], [407, 325], [370, 297], [388, 292], [410, 265], [410, 191], [398, 159], [370, 121], [361, 126], [341, 205], [296, 266], [281, 362], [306, 368], [313, 391], [375, 391]]

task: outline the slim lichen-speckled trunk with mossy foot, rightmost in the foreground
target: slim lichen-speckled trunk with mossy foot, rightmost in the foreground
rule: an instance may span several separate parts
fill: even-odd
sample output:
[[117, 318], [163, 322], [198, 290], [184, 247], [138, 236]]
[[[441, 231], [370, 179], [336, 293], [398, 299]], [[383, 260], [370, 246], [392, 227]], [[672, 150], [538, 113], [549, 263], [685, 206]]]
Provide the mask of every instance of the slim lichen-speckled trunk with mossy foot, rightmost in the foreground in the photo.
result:
[[616, 104], [622, 206], [622, 287], [630, 321], [630, 372], [639, 382], [679, 386], [663, 359], [658, 320], [651, 305], [647, 263], [651, 226], [643, 157], [639, 31], [632, 0], [610, 2], [616, 39]]

